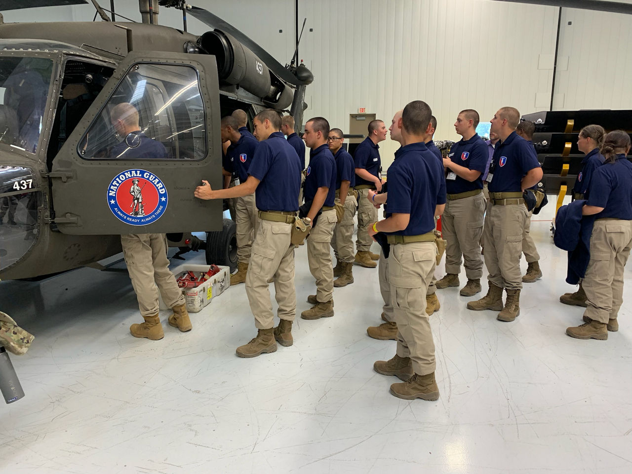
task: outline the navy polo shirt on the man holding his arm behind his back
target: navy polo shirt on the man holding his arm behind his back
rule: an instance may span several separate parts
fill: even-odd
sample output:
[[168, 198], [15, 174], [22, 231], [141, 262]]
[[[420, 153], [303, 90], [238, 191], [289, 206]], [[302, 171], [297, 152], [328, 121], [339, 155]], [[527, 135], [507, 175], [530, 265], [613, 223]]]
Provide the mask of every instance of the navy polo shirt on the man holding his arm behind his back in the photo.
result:
[[528, 171], [539, 167], [532, 143], [512, 131], [504, 142], [496, 142], [487, 174], [487, 189], [490, 193], [521, 193], [522, 178]]

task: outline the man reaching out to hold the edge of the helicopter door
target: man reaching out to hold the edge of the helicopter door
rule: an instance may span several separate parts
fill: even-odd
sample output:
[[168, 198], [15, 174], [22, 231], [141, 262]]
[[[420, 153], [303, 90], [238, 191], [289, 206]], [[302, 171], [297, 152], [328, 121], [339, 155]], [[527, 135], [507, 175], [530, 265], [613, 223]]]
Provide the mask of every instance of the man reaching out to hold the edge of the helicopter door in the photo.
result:
[[[274, 352], [276, 341], [291, 346], [292, 322], [296, 315], [294, 286], [294, 249], [290, 233], [298, 210], [300, 160], [296, 151], [281, 133], [281, 116], [265, 109], [255, 116], [255, 137], [259, 145], [253, 157], [248, 179], [239, 186], [212, 190], [207, 181], [195, 189], [200, 199], [221, 199], [246, 196], [257, 190], [256, 202], [260, 225], [252, 244], [252, 255], [246, 275], [246, 295], [255, 316], [257, 337], [237, 348], [240, 357], [255, 357]], [[270, 303], [269, 281], [274, 281], [277, 314], [281, 319], [274, 327]]]

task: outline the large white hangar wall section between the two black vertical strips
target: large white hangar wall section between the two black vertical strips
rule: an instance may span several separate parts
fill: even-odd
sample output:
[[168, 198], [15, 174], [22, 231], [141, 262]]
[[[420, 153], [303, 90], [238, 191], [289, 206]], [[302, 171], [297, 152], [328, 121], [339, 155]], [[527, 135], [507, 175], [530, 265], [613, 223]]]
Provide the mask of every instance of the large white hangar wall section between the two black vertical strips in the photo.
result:
[[[489, 120], [502, 106], [528, 113], [550, 97], [557, 8], [489, 0], [299, 1], [307, 16], [300, 58], [314, 73], [305, 118], [324, 116], [348, 131], [358, 107], [390, 123], [414, 99], [432, 107], [435, 138], [456, 139], [461, 109]], [[309, 32], [308, 28], [313, 28]], [[398, 145], [380, 144], [386, 167]]]

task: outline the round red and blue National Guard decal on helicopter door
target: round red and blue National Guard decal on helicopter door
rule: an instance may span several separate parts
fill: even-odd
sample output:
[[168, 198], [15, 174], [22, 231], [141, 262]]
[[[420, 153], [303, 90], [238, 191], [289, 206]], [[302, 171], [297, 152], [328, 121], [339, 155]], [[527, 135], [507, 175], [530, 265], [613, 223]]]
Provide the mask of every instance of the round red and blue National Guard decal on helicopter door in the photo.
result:
[[119, 221], [146, 226], [160, 219], [167, 209], [167, 188], [145, 169], [128, 169], [107, 186], [107, 205]]

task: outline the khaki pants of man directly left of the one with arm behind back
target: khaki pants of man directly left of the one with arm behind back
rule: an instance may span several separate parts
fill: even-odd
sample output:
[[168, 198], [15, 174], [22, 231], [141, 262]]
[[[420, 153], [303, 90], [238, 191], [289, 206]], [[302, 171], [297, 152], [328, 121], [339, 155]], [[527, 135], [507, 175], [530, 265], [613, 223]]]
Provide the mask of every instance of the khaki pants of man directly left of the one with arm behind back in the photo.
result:
[[485, 197], [483, 193], [463, 199], [448, 199], [441, 216], [441, 234], [447, 240], [446, 273], [461, 273], [461, 255], [468, 279], [483, 275], [480, 236], [483, 234]]

